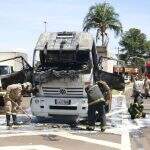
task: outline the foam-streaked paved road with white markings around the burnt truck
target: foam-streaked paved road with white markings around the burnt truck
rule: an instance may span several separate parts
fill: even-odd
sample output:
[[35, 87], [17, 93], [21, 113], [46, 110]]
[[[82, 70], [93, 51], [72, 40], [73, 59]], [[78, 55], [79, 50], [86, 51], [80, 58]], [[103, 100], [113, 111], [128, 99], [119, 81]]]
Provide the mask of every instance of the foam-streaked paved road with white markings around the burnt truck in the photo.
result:
[[[0, 150], [149, 150], [150, 115], [145, 119], [131, 120], [127, 105], [132, 102], [131, 89], [126, 97], [113, 96], [112, 110], [107, 114], [106, 132], [87, 131], [84, 125], [70, 128], [67, 124], [32, 123], [8, 129], [5, 116], [0, 116]], [[149, 111], [150, 98], [144, 101]], [[19, 121], [26, 123], [25, 115]]]

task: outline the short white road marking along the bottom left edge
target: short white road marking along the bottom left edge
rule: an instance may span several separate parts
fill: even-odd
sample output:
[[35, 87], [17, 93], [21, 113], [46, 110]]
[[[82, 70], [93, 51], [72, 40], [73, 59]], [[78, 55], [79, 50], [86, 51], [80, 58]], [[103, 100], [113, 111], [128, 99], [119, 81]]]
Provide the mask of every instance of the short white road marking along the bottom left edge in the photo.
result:
[[2, 146], [0, 150], [61, 150], [45, 145]]

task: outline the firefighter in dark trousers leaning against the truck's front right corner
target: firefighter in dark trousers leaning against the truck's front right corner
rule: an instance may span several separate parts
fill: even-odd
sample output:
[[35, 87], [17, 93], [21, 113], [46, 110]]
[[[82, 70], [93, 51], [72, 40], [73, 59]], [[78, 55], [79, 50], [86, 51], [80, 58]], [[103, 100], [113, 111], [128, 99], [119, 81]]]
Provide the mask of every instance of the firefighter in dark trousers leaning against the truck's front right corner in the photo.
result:
[[[88, 130], [94, 130], [96, 120], [100, 121], [101, 131], [105, 131], [106, 126], [106, 101], [111, 99], [108, 96], [107, 89], [109, 89], [107, 84], [103, 81], [97, 82], [93, 86], [88, 86], [85, 91], [88, 96]], [[109, 93], [110, 94], [110, 93]], [[96, 111], [98, 115], [96, 115]]]

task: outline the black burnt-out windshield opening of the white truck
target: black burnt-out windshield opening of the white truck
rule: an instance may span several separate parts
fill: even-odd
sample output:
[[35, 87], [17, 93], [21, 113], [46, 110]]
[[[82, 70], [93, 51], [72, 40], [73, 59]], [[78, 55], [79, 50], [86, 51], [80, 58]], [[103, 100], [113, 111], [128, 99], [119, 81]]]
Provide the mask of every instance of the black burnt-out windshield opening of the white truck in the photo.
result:
[[91, 57], [90, 51], [40, 51], [40, 64], [41, 69], [54, 69], [54, 70], [91, 70]]

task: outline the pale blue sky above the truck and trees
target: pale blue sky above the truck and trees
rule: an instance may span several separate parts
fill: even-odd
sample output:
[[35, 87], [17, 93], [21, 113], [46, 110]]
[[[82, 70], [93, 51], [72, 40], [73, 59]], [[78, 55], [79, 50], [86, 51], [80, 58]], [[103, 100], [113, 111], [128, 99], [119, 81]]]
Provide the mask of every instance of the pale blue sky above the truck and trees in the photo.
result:
[[[135, 27], [150, 38], [149, 0], [106, 0], [119, 14], [123, 30]], [[39, 35], [47, 31], [82, 31], [89, 7], [104, 0], [0, 0], [0, 51], [20, 51], [32, 60]], [[92, 32], [95, 36], [94, 32]], [[117, 53], [119, 38], [109, 32], [109, 52]]]

